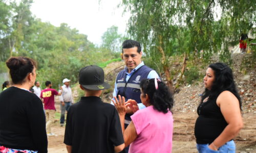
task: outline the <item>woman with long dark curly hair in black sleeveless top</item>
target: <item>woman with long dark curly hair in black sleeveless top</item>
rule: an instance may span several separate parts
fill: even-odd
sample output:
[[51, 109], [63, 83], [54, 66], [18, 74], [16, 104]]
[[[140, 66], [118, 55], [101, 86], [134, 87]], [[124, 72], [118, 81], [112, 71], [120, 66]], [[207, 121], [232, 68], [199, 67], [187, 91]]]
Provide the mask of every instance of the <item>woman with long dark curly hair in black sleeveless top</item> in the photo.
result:
[[195, 125], [197, 149], [200, 153], [235, 152], [232, 139], [242, 129], [243, 120], [232, 70], [224, 63], [210, 64], [204, 86]]

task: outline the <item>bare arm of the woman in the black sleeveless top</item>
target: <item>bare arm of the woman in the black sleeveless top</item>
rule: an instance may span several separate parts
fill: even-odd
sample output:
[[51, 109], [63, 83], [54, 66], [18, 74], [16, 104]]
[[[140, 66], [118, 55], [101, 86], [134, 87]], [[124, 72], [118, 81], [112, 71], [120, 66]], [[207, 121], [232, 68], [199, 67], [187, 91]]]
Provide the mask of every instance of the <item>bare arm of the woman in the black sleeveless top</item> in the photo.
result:
[[219, 147], [233, 139], [243, 127], [239, 101], [236, 96], [229, 91], [223, 91], [218, 96], [216, 103], [221, 109], [227, 126], [214, 142], [209, 145], [209, 148], [212, 150], [218, 150]]

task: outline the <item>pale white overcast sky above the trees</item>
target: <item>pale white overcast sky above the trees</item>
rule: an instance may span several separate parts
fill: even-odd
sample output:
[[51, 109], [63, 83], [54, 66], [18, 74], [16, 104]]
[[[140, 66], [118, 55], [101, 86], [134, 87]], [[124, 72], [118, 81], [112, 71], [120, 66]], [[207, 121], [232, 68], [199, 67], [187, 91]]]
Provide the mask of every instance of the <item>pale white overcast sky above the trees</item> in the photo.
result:
[[125, 34], [129, 13], [123, 14], [123, 8], [117, 5], [121, 0], [34, 0], [32, 13], [43, 22], [59, 27], [68, 23], [79, 33], [88, 35], [88, 39], [101, 43], [102, 34], [112, 25], [119, 33]]

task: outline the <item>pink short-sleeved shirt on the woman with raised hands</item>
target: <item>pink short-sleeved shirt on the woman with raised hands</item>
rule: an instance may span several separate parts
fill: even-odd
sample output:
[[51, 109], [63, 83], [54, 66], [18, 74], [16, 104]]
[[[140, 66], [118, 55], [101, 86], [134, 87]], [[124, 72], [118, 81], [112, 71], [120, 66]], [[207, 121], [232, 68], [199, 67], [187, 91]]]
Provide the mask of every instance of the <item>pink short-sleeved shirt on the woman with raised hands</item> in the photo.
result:
[[172, 152], [174, 119], [170, 111], [164, 114], [149, 106], [131, 118], [138, 136], [131, 143], [129, 152]]

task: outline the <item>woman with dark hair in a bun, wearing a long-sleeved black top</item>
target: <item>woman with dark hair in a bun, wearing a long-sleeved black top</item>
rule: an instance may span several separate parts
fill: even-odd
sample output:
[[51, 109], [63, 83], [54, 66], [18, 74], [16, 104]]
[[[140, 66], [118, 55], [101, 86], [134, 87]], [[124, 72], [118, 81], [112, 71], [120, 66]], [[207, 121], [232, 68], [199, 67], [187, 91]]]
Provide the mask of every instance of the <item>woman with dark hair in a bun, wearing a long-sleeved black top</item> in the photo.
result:
[[29, 91], [36, 63], [26, 57], [6, 62], [13, 86], [0, 94], [0, 152], [47, 152], [46, 118], [41, 100]]

